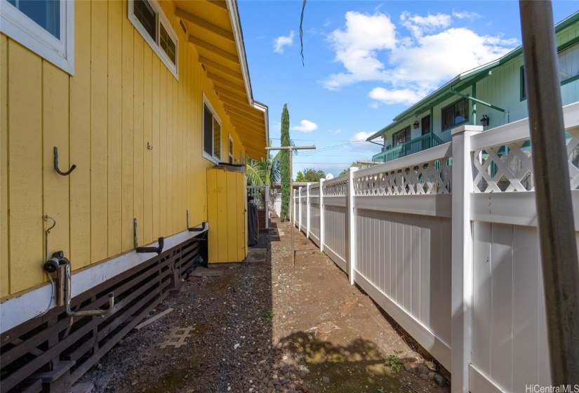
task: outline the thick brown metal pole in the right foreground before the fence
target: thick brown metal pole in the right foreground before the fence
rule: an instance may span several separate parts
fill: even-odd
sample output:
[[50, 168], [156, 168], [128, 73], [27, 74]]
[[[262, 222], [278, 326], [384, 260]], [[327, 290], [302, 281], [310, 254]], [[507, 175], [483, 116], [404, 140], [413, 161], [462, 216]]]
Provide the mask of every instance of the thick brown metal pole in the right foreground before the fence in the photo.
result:
[[579, 381], [579, 264], [551, 1], [519, 0], [554, 386]]

